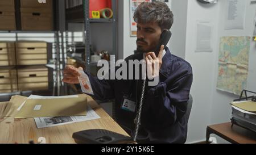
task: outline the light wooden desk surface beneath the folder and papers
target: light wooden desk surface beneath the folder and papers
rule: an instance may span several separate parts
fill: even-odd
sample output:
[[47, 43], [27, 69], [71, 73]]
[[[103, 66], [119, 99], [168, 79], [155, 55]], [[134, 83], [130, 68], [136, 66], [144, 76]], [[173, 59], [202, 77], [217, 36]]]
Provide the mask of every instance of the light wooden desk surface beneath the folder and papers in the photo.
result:
[[[8, 102], [0, 102], [0, 115]], [[33, 118], [15, 119], [7, 117], [0, 119], [0, 143], [28, 143], [31, 140], [38, 141], [39, 137], [45, 137], [46, 143], [75, 143], [73, 132], [85, 129], [108, 129], [129, 136], [92, 98], [88, 96], [88, 103], [101, 117], [96, 120], [60, 125], [56, 127], [37, 128]]]

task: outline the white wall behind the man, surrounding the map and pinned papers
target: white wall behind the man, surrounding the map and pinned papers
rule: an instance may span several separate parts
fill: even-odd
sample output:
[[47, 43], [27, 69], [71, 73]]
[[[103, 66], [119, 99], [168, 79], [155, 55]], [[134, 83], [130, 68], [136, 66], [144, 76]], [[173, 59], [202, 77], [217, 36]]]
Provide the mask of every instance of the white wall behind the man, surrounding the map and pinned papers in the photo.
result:
[[[176, 1], [176, 0], [174, 0]], [[230, 101], [238, 98], [237, 95], [216, 90], [218, 75], [218, 49], [221, 36], [251, 36], [253, 33], [253, 19], [255, 5], [247, 1], [245, 30], [224, 30], [225, 2], [217, 4], [201, 4], [197, 1], [188, 1], [187, 11], [187, 35], [185, 60], [191, 63], [193, 68], [193, 108], [188, 127], [188, 143], [205, 140], [206, 127], [209, 124], [230, 121]], [[172, 6], [175, 7], [175, 6]], [[213, 52], [195, 53], [196, 45], [196, 20], [210, 20], [213, 25]], [[173, 30], [175, 31], [175, 30]], [[255, 80], [255, 65], [252, 65], [255, 57], [255, 42], [252, 41], [250, 49], [250, 74], [248, 83]], [[254, 71], [253, 71], [254, 70]], [[247, 89], [256, 89], [255, 85], [248, 85]], [[225, 143], [218, 139], [220, 143]]]

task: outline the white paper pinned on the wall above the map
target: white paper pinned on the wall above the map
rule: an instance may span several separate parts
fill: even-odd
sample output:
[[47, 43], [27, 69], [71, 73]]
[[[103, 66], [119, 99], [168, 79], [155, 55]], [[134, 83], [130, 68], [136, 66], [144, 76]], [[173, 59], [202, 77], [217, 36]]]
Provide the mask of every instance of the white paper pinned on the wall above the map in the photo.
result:
[[225, 30], [245, 28], [246, 2], [244, 0], [226, 1]]

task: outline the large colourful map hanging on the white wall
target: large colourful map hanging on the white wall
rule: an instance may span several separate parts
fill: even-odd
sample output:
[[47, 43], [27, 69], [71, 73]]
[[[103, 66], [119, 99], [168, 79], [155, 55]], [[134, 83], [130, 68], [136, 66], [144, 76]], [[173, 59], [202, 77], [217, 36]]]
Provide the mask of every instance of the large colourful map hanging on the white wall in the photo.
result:
[[217, 89], [240, 95], [246, 88], [250, 37], [221, 37]]

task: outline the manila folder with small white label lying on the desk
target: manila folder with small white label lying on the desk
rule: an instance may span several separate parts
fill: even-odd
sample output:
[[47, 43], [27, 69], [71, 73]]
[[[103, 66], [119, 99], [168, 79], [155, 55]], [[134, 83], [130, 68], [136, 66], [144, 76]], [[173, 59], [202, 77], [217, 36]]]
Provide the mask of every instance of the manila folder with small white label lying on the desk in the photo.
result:
[[87, 97], [27, 99], [15, 119], [57, 116], [85, 116]]

